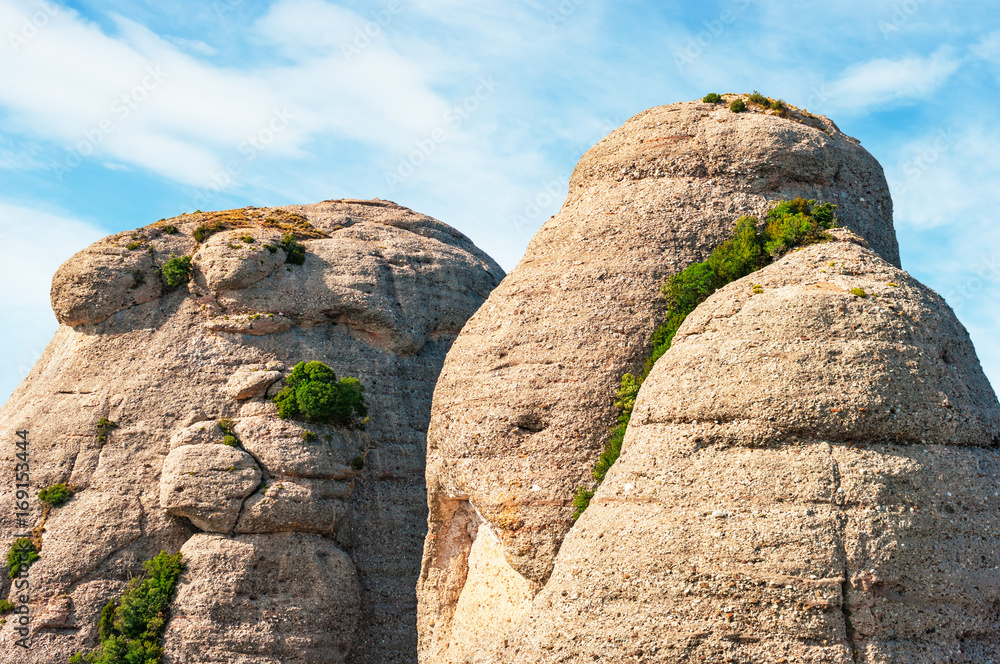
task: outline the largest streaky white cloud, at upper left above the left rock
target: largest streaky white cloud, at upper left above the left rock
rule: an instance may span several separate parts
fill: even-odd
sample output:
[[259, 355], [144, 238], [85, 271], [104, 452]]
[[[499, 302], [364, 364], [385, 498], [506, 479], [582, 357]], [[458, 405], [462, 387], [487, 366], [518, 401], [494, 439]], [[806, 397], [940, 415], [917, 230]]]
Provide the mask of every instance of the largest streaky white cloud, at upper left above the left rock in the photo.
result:
[[[0, 24], [30, 20], [33, 6], [0, 0]], [[432, 89], [433, 63], [414, 62], [383, 38], [345, 56], [341, 46], [370, 20], [331, 3], [274, 4], [254, 31], [291, 62], [251, 70], [206, 64], [138, 23], [112, 18], [114, 37], [62, 8], [17, 50], [0, 49], [8, 125], [64, 145], [58, 161], [68, 168], [110, 157], [200, 186], [248, 139], [267, 138], [275, 157], [301, 156], [324, 132], [399, 149], [447, 110]], [[192, 44], [182, 47], [204, 51]], [[276, 113], [291, 121], [272, 135]]]

